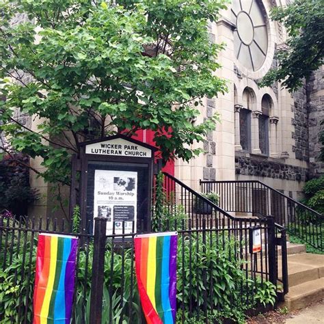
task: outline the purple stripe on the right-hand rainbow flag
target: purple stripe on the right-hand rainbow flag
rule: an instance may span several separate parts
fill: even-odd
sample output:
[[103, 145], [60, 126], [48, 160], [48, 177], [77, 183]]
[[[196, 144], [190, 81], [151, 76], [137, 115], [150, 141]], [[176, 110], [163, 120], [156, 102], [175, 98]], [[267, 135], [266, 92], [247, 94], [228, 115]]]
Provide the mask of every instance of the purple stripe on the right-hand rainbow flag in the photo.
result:
[[177, 239], [176, 235], [170, 237], [170, 306], [172, 309], [173, 323], [176, 323], [176, 252], [177, 252]]

